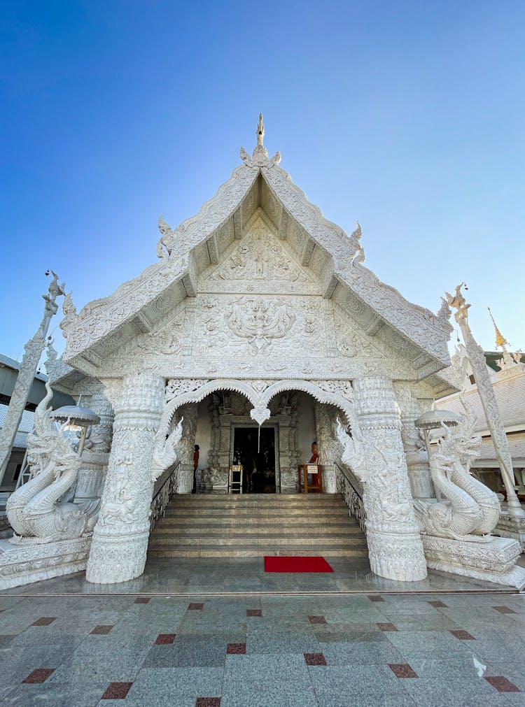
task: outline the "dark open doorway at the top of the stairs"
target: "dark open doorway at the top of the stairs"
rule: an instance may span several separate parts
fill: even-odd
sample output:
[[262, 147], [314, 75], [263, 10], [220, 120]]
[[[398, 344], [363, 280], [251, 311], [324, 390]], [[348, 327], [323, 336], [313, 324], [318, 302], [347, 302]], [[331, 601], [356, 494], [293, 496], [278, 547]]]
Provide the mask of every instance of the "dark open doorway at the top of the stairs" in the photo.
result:
[[[236, 427], [233, 463], [244, 467], [243, 493], [275, 493], [275, 428]], [[258, 450], [259, 447], [259, 450]]]

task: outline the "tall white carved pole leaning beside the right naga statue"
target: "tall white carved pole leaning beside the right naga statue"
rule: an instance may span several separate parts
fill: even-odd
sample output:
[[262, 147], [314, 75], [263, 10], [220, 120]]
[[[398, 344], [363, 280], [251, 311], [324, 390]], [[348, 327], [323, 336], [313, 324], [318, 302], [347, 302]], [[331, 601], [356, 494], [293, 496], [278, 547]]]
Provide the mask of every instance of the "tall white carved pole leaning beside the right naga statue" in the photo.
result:
[[468, 325], [468, 308], [471, 306], [466, 303], [465, 298], [461, 294], [461, 285], [456, 287], [454, 296], [446, 293], [446, 299], [449, 305], [456, 309], [454, 317], [463, 334], [463, 341], [468, 353], [468, 358], [471, 361], [471, 366], [474, 374], [478, 393], [480, 395], [481, 404], [485, 411], [488, 427], [490, 429], [490, 437], [494, 445], [498, 462], [500, 462], [500, 471], [502, 474], [503, 484], [507, 491], [507, 506], [509, 507], [509, 515], [511, 518], [525, 518], [525, 511], [521, 508], [519, 498], [516, 495], [514, 486], [514, 469], [512, 468], [512, 457], [510, 455], [509, 443], [505, 428], [500, 416], [500, 409], [497, 407], [496, 396], [492, 381], [488, 375], [487, 362], [485, 361], [485, 353], [478, 342], [474, 339], [471, 332], [471, 327]]

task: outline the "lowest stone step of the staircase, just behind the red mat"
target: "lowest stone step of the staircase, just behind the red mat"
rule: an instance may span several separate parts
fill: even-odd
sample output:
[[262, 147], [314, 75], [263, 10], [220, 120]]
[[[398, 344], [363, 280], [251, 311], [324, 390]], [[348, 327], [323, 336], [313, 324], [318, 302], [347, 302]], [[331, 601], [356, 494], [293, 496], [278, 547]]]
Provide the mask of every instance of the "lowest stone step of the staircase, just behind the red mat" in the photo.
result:
[[313, 549], [306, 547], [287, 546], [272, 547], [263, 549], [257, 545], [245, 546], [242, 549], [228, 549], [215, 546], [192, 547], [180, 545], [176, 549], [149, 549], [150, 557], [264, 557], [272, 556], [304, 556], [304, 557], [367, 557], [368, 551], [365, 548], [347, 547], [341, 545], [321, 546]]

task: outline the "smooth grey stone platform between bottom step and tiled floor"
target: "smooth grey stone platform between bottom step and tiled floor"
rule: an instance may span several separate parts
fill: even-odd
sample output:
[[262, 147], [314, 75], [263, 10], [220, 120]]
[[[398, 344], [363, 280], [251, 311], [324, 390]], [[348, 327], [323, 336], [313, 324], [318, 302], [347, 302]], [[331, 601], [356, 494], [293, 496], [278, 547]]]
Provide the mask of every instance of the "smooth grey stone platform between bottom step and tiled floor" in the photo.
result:
[[[270, 554], [270, 553], [269, 553]], [[523, 557], [521, 561], [523, 561]], [[155, 558], [141, 577], [97, 585], [78, 572], [0, 592], [16, 596], [63, 595], [374, 595], [516, 593], [513, 588], [429, 570], [420, 582], [394, 582], [374, 575], [366, 558], [328, 557], [333, 573], [266, 573], [258, 558]]]

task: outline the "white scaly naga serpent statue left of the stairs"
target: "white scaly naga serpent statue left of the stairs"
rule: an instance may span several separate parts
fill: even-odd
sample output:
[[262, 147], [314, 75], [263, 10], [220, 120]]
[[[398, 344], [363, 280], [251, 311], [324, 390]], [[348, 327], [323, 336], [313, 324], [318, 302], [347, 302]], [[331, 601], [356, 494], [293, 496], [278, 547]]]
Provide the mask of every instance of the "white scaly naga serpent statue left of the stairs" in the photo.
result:
[[81, 457], [51, 417], [52, 390], [35, 410], [35, 429], [28, 436], [28, 462], [33, 477], [8, 498], [6, 513], [15, 531], [12, 542], [52, 542], [90, 533], [98, 517], [100, 500], [66, 503], [59, 499], [79, 474]]

